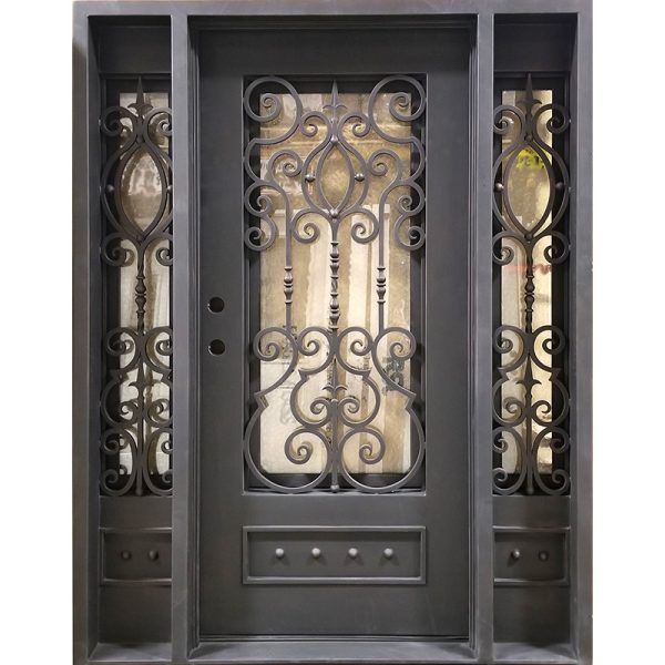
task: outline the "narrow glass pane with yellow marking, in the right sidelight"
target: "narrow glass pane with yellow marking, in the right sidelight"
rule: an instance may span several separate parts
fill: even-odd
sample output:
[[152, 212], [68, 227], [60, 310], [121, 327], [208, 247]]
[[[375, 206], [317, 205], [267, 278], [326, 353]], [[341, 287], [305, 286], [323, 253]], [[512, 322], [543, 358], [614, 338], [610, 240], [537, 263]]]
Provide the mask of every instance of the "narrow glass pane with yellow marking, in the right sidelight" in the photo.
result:
[[494, 260], [500, 275], [500, 356], [495, 382], [495, 489], [560, 493], [569, 395], [561, 381], [564, 334], [554, 324], [553, 275], [569, 254], [561, 226], [569, 176], [555, 144], [567, 129], [552, 90], [505, 90], [495, 112], [500, 156], [494, 165]]

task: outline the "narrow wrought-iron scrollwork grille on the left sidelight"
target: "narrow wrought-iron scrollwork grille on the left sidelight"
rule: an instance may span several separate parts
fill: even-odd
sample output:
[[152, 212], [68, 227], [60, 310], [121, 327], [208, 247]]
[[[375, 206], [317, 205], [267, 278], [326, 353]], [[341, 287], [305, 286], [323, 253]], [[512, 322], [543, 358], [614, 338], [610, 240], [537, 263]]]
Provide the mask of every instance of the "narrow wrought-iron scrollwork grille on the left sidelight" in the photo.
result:
[[[147, 273], [154, 262], [167, 268], [172, 265], [171, 109], [153, 108], [139, 79], [136, 101], [127, 108], [105, 109], [100, 127], [108, 146], [101, 178], [108, 229], [101, 257], [106, 265], [106, 285], [117, 285], [121, 270], [131, 270], [133, 282], [131, 324], [108, 326], [103, 340], [106, 382], [101, 395], [101, 489], [111, 495], [166, 495], [173, 482], [172, 329], [151, 325], [149, 314], [155, 305], [151, 297], [156, 296]], [[126, 185], [139, 160], [150, 161], [158, 182], [158, 203], [143, 223], [132, 214], [132, 192]], [[119, 306], [119, 301], [108, 304], [110, 321], [120, 321]]]

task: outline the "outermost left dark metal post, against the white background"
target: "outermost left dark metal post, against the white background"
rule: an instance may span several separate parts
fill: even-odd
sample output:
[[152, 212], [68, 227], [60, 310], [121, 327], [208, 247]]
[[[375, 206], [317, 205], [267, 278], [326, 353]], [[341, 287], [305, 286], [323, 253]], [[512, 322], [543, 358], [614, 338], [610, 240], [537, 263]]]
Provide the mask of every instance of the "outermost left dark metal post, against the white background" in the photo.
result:
[[101, 386], [101, 270], [99, 265], [99, 75], [89, 17], [74, 6], [72, 126], [72, 480], [74, 662], [98, 642], [98, 556]]

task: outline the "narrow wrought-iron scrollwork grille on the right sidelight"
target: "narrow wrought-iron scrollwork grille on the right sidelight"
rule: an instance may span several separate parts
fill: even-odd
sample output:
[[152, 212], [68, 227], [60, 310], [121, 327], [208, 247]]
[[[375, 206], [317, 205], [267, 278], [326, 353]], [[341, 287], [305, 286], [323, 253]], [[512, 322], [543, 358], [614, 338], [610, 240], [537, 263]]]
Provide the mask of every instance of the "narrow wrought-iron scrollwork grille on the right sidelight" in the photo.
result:
[[[564, 222], [570, 201], [570, 176], [563, 156], [555, 150], [555, 137], [564, 135], [570, 115], [560, 104], [542, 104], [533, 96], [528, 76], [523, 101], [518, 105], [501, 104], [494, 109], [493, 130], [503, 140], [493, 165], [493, 216], [499, 228], [493, 237], [493, 262], [499, 269], [513, 266], [523, 284], [522, 325], [494, 327], [493, 350], [501, 358], [495, 366], [493, 385], [493, 488], [498, 494], [564, 494], [570, 489], [566, 429], [570, 393], [562, 376], [566, 352], [566, 335], [555, 325], [534, 328], [536, 300], [534, 252], [549, 265], [552, 274], [567, 260], [570, 242]], [[549, 117], [548, 117], [549, 115]], [[545, 132], [552, 139], [549, 142]], [[505, 145], [504, 139], [513, 136]], [[545, 170], [549, 192], [542, 213], [531, 222], [520, 218], [509, 186], [520, 154], [528, 151]], [[518, 254], [522, 254], [520, 262]], [[501, 321], [500, 321], [501, 323]], [[534, 395], [534, 388], [549, 383], [549, 398]], [[512, 385], [520, 393], [505, 397]], [[518, 462], [514, 471], [503, 467], [503, 456], [514, 446]], [[551, 470], [539, 469], [539, 452], [549, 447]], [[498, 461], [498, 462], [497, 462]]]

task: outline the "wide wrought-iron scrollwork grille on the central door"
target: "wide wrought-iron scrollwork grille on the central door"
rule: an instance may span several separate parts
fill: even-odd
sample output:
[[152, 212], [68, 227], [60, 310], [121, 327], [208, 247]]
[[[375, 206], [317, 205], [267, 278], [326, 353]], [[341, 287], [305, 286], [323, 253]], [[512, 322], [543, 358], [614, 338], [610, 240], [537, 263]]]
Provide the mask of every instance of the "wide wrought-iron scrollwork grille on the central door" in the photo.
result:
[[[396, 92], [408, 89], [410, 93]], [[259, 91], [267, 90], [267, 92]], [[279, 92], [275, 92], [279, 91]], [[396, 136], [387, 131], [385, 123], [376, 114], [380, 93], [390, 91], [389, 115], [391, 121], [410, 123], [424, 119], [426, 92], [420, 82], [406, 75], [386, 76], [371, 90], [366, 111], [349, 110], [341, 103], [338, 83], [332, 82], [330, 103], [320, 110], [307, 111], [296, 88], [287, 80], [265, 76], [253, 81], [246, 88], [244, 111], [248, 123], [262, 126], [285, 117], [284, 99], [295, 108], [293, 121], [278, 136], [262, 136], [260, 132], [249, 133], [244, 152], [246, 174], [245, 208], [248, 226], [245, 244], [250, 252], [265, 252], [270, 248], [279, 229], [275, 222], [276, 205], [285, 212], [284, 228], [284, 324], [259, 330], [253, 340], [253, 355], [262, 364], [288, 358], [288, 366], [267, 387], [254, 393], [254, 410], [248, 418], [244, 437], [244, 457], [249, 473], [266, 488], [283, 493], [307, 492], [314, 489], [337, 492], [348, 488], [361, 492], [395, 492], [405, 488], [422, 466], [424, 458], [424, 432], [413, 402], [417, 395], [400, 385], [390, 367], [403, 367], [413, 358], [417, 340], [411, 330], [387, 324], [386, 294], [389, 288], [386, 269], [385, 242], [388, 233], [401, 249], [417, 252], [426, 241], [420, 213], [424, 208], [424, 191], [421, 182], [426, 167], [424, 146], [419, 137]], [[263, 105], [263, 114], [260, 106]], [[290, 116], [289, 116], [290, 117]], [[383, 124], [383, 126], [381, 126]], [[372, 135], [381, 147], [365, 157], [357, 142]], [[307, 155], [300, 155], [288, 145], [273, 147], [272, 156], [263, 167], [258, 165], [262, 147], [278, 146], [291, 136], [306, 137], [315, 145]], [[409, 161], [402, 161], [396, 146], [408, 147]], [[330, 158], [337, 158], [342, 175], [342, 192], [334, 197], [324, 186], [324, 172]], [[342, 164], [342, 166], [339, 166]], [[391, 164], [392, 168], [388, 167]], [[287, 187], [280, 182], [288, 181], [295, 187], [305, 205], [296, 209], [289, 200]], [[386, 181], [378, 202], [378, 213], [368, 204], [370, 181]], [[388, 221], [388, 197], [397, 196], [397, 213]], [[395, 212], [395, 211], [393, 211]], [[392, 224], [391, 224], [392, 222]], [[345, 229], [345, 226], [348, 227]], [[294, 274], [293, 252], [295, 244], [315, 243], [323, 234], [329, 238], [327, 293], [328, 325], [308, 326], [299, 331], [293, 325], [294, 288], [298, 276]], [[348, 233], [352, 243], [378, 243], [378, 264], [374, 275], [375, 300], [378, 332], [360, 326], [339, 329], [340, 320], [340, 234]], [[387, 348], [387, 367], [381, 365], [379, 347]], [[383, 348], [381, 346], [381, 348]], [[313, 366], [303, 368], [301, 360], [315, 358]], [[362, 464], [378, 464], [386, 456], [385, 432], [375, 422], [381, 405], [381, 389], [371, 376], [372, 368], [378, 372], [383, 387], [398, 391], [405, 398], [405, 409], [410, 419], [412, 457], [408, 470], [398, 480], [390, 478], [379, 485], [362, 482], [358, 474], [345, 462], [345, 449], [357, 437], [364, 437], [355, 453]], [[309, 381], [326, 372], [325, 386], [310, 403], [303, 406], [303, 389]], [[341, 380], [340, 376], [357, 377], [371, 395], [371, 406], [362, 413], [362, 399]], [[285, 383], [289, 376], [296, 376], [290, 389], [288, 408], [296, 421], [296, 428], [285, 436], [284, 454], [293, 464], [306, 464], [318, 447], [325, 461], [320, 471], [306, 474], [306, 480], [297, 487], [286, 487], [262, 470], [256, 459], [252, 441], [259, 429], [262, 413], [268, 407], [272, 392]], [[323, 381], [321, 381], [323, 382]], [[401, 381], [403, 383], [403, 381]], [[367, 400], [365, 401], [367, 405]]]

